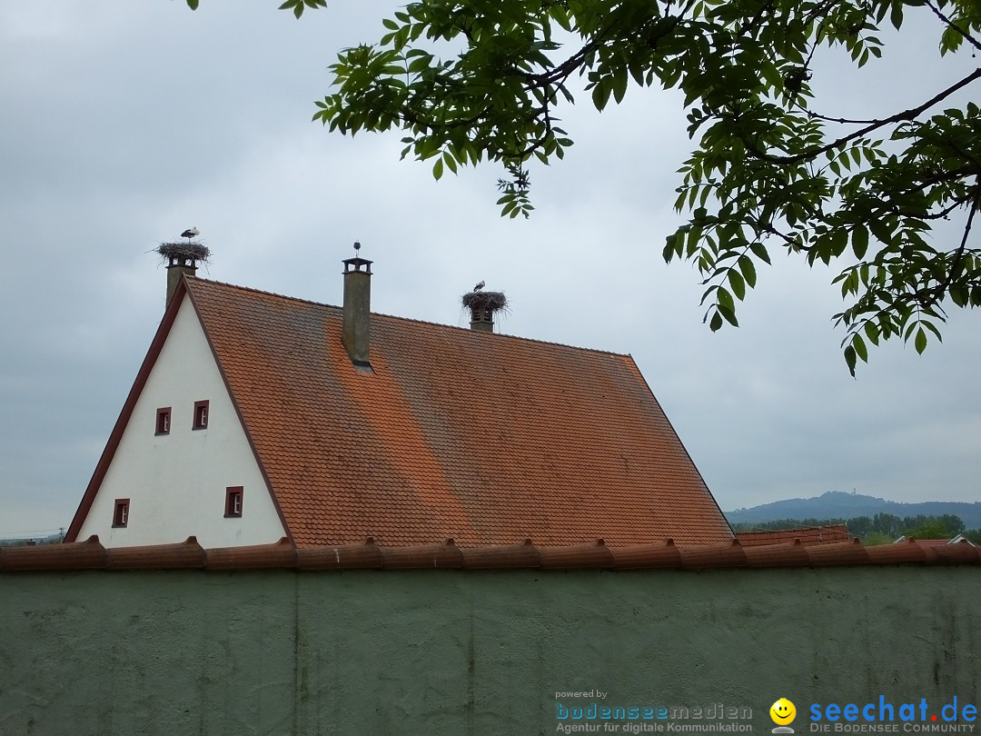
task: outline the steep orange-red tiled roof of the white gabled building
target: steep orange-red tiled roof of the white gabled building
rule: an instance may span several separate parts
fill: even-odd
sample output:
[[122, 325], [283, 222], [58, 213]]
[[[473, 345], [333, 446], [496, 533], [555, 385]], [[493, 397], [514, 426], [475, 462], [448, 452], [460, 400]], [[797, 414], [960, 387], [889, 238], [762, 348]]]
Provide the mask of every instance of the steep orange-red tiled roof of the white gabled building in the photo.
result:
[[629, 355], [185, 284], [301, 547], [732, 540]]

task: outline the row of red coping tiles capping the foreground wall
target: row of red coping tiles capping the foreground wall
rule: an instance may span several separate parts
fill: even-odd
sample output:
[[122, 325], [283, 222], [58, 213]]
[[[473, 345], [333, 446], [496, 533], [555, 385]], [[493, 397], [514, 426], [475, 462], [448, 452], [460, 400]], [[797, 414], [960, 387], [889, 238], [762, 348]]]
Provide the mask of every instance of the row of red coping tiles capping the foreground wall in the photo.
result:
[[202, 550], [190, 537], [180, 545], [106, 550], [98, 537], [85, 542], [38, 547], [0, 547], [0, 573], [64, 570], [488, 570], [529, 568], [681, 569], [724, 567], [839, 567], [853, 565], [977, 565], [981, 548], [917, 544], [862, 547], [857, 540], [833, 545], [800, 544], [742, 547], [739, 542], [677, 547], [633, 545], [606, 547], [602, 541], [568, 546], [536, 546], [531, 540], [504, 547], [456, 547], [452, 540], [435, 545], [379, 547], [374, 541], [336, 547], [297, 548], [285, 538], [274, 545]]

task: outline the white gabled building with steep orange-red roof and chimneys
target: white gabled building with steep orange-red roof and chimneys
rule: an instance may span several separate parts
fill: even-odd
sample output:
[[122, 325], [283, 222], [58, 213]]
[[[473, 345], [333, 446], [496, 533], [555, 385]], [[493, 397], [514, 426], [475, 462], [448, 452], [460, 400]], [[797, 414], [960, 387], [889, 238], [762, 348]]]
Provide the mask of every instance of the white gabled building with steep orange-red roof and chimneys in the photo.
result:
[[205, 548], [724, 544], [633, 358], [194, 276], [168, 306], [66, 542]]

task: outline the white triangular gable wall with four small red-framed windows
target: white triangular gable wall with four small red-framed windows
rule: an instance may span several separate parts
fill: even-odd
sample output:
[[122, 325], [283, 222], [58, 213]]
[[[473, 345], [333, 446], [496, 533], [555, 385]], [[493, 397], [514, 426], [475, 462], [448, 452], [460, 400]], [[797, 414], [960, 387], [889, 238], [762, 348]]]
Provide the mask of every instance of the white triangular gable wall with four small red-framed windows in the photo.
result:
[[[207, 399], [206, 429], [191, 429]], [[169, 435], [157, 409], [171, 407]], [[242, 514], [225, 516], [226, 488], [241, 486]], [[116, 499], [129, 499], [126, 527], [113, 527]], [[184, 295], [156, 364], [77, 535], [105, 547], [183, 542], [205, 548], [261, 545], [285, 535], [190, 298]]]

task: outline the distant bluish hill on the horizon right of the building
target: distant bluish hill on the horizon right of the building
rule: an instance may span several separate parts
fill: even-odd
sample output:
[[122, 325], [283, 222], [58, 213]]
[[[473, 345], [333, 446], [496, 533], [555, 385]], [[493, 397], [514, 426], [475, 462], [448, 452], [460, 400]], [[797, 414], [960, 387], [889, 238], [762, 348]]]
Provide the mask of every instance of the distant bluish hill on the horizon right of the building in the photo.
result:
[[943, 516], [952, 513], [960, 517], [967, 529], [981, 529], [981, 502], [965, 503], [952, 500], [927, 500], [922, 503], [900, 503], [877, 499], [874, 496], [829, 491], [813, 499], [777, 500], [752, 508], [725, 511], [730, 524], [779, 521], [780, 519], [852, 519], [855, 516], [875, 516], [891, 513], [905, 516]]

